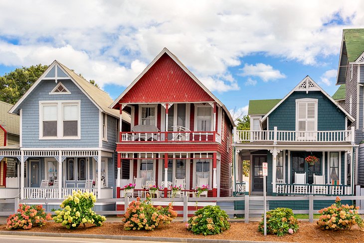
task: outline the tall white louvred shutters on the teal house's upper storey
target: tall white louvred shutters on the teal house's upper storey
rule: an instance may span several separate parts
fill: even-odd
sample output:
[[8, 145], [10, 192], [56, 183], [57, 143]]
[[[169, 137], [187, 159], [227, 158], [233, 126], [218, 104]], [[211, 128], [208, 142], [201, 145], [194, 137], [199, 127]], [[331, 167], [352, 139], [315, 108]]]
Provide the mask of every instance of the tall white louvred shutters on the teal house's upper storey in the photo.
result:
[[317, 99], [296, 99], [296, 140], [317, 139]]

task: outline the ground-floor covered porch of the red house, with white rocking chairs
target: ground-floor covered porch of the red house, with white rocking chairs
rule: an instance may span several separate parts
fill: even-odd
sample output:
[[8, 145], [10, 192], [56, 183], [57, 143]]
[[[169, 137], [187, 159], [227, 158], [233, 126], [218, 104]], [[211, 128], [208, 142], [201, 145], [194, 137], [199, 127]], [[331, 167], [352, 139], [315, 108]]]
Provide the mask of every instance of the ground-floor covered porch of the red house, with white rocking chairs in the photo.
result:
[[208, 186], [204, 196], [219, 197], [220, 154], [216, 152], [130, 152], [118, 153], [117, 197], [128, 196], [124, 186], [136, 184], [134, 194], [143, 197], [153, 185], [158, 186], [157, 197], [176, 197], [172, 187], [181, 187], [177, 197], [196, 195], [198, 187]]

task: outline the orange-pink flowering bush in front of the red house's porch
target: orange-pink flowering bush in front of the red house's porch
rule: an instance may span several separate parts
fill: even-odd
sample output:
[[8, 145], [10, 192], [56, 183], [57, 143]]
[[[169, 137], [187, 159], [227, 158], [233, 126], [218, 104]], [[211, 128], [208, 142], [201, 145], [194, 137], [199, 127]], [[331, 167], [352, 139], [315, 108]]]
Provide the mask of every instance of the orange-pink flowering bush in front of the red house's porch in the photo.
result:
[[147, 230], [152, 231], [161, 224], [170, 224], [177, 217], [177, 212], [173, 210], [172, 203], [168, 207], [154, 207], [150, 195], [146, 200], [133, 201], [129, 204], [124, 219], [124, 230]]

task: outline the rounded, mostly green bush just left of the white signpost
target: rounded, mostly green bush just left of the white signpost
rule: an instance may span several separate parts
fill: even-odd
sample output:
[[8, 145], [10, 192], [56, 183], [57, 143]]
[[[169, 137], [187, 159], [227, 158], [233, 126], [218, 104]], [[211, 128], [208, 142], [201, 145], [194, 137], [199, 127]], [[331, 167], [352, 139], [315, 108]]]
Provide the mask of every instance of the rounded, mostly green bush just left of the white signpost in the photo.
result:
[[228, 216], [219, 206], [205, 206], [197, 210], [186, 224], [195, 235], [216, 235], [230, 229]]

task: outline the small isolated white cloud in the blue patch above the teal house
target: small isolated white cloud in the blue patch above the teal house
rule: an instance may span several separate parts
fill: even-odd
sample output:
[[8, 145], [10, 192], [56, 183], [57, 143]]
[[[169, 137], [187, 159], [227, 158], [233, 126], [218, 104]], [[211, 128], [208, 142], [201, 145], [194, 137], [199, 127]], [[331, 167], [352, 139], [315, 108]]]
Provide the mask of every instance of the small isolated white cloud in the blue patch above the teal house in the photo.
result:
[[264, 82], [286, 77], [286, 75], [282, 74], [279, 70], [273, 69], [271, 65], [266, 65], [264, 63], [256, 63], [255, 65], [245, 63], [244, 67], [240, 70], [242, 71], [240, 74], [241, 76], [259, 77]]

